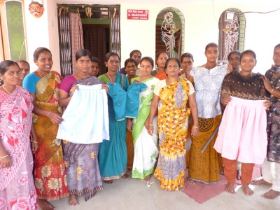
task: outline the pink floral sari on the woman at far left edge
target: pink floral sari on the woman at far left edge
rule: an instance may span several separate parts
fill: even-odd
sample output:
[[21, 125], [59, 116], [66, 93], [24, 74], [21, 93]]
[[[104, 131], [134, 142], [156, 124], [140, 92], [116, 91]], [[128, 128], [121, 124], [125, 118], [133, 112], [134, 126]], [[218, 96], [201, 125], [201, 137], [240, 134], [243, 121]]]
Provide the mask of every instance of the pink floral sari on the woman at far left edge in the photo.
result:
[[12, 165], [0, 166], [0, 209], [38, 209], [30, 146], [32, 97], [22, 87], [0, 91], [0, 141]]

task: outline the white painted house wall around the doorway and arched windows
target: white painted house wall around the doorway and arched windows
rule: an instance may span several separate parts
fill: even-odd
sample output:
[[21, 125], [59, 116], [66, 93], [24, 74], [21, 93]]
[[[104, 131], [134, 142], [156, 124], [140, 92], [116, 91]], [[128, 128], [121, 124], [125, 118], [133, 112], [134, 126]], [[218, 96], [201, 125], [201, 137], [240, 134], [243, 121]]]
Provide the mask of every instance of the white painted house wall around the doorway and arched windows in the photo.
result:
[[[41, 18], [29, 15], [28, 3], [25, 1], [27, 20], [27, 46], [29, 62], [32, 62], [33, 52], [38, 46], [50, 48], [54, 64], [52, 69], [59, 71], [59, 45], [57, 31], [57, 6], [56, 3], [82, 3], [82, 1], [55, 1], [45, 2], [45, 12]], [[120, 33], [122, 66], [125, 59], [134, 49], [139, 49], [143, 56], [155, 58], [155, 20], [163, 8], [174, 7], [181, 10], [186, 21], [185, 52], [193, 53], [195, 65], [204, 64], [204, 47], [207, 43], [218, 43], [218, 19], [224, 10], [237, 8], [242, 12], [265, 12], [280, 8], [280, 1], [86, 1], [87, 4], [120, 3]], [[139, 2], [139, 1], [137, 1]], [[197, 3], [198, 2], [198, 3]], [[279, 6], [277, 4], [279, 2]], [[85, 3], [85, 2], [83, 2]], [[214, 3], [214, 5], [212, 4]], [[252, 5], [254, 3], [254, 5]], [[270, 3], [270, 4], [269, 4]], [[148, 9], [149, 20], [127, 20], [127, 9]], [[280, 43], [280, 10], [269, 13], [246, 13], [245, 50], [254, 50], [257, 54], [258, 64], [254, 71], [265, 73], [272, 64], [274, 45]], [[31, 65], [32, 70], [36, 66]]]

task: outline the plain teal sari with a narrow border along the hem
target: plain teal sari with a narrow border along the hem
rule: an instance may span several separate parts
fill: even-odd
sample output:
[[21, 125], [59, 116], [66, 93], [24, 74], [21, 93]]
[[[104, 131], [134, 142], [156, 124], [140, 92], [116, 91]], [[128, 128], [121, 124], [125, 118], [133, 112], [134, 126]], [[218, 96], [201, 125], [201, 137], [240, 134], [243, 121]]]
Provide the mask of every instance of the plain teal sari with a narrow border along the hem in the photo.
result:
[[[98, 77], [104, 83], [110, 83], [105, 74]], [[129, 86], [126, 76], [117, 73], [115, 82], [124, 90]], [[127, 172], [127, 145], [126, 123], [127, 120], [117, 121], [113, 109], [113, 100], [108, 98], [109, 132], [110, 141], [103, 141], [99, 147], [99, 168], [102, 180], [120, 179]]]

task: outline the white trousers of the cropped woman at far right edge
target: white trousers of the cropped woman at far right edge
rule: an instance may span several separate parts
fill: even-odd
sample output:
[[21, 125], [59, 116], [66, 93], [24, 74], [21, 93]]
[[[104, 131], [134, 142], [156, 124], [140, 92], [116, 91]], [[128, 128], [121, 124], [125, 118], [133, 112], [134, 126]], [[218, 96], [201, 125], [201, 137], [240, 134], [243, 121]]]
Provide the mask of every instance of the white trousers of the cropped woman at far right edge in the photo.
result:
[[280, 163], [269, 162], [266, 158], [261, 168], [263, 180], [272, 183], [272, 190], [280, 192]]

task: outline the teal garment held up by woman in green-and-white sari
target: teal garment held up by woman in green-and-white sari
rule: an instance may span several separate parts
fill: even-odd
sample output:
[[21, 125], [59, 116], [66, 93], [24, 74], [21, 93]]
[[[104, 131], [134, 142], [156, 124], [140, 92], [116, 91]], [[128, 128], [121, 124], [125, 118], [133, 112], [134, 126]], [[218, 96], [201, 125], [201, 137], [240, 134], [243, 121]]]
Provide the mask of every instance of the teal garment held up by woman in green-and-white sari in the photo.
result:
[[125, 117], [137, 118], [139, 111], [139, 94], [147, 89], [145, 83], [132, 83], [127, 89], [127, 102]]

